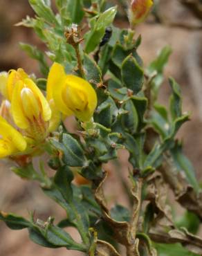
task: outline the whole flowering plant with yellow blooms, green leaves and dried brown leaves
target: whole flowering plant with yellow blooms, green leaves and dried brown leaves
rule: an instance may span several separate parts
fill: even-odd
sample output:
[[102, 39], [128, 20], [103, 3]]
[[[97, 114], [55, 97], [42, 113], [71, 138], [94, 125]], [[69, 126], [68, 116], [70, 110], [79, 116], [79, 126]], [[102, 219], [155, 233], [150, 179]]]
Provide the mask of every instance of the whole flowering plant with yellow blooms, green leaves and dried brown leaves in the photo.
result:
[[[25, 219], [1, 211], [0, 219], [12, 229], [28, 228], [41, 246], [90, 256], [201, 255], [202, 239], [194, 232], [202, 219], [202, 193], [176, 140], [189, 114], [182, 111], [173, 78], [169, 107], [158, 103], [171, 49], [165, 46], [146, 68], [138, 55], [136, 26], [153, 1], [128, 4], [128, 29], [113, 25], [117, 7], [104, 0], [56, 0], [56, 15], [49, 0], [29, 3], [36, 17], [18, 25], [33, 28], [47, 51], [29, 44], [21, 48], [39, 62], [43, 77], [21, 68], [0, 73], [0, 158], [12, 161], [21, 178], [38, 181], [66, 217], [55, 223], [53, 217], [41, 220], [31, 213]], [[66, 128], [68, 116], [75, 118], [74, 133]], [[118, 172], [120, 150], [129, 154], [128, 179]], [[43, 164], [33, 165], [45, 152], [52, 176]], [[112, 160], [128, 208], [107, 205], [104, 163]], [[180, 221], [167, 191], [186, 210]], [[64, 229], [69, 226], [80, 241]]]

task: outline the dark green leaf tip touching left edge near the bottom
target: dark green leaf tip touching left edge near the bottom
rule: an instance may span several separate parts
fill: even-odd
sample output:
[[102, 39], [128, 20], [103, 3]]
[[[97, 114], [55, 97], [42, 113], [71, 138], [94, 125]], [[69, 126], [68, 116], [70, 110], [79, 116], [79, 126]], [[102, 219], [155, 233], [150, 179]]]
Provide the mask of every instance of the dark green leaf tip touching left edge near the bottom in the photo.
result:
[[0, 220], [4, 221], [12, 230], [21, 230], [31, 226], [30, 221], [27, 221], [23, 217], [2, 211], [0, 211]]

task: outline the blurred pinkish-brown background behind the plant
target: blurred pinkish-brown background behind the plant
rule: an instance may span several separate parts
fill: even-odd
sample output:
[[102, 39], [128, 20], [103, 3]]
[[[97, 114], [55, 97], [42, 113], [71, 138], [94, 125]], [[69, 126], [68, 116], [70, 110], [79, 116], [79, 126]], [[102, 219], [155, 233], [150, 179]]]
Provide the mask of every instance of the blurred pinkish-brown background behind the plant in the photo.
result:
[[[73, 1], [73, 0], [72, 0]], [[124, 1], [113, 1], [119, 4]], [[183, 109], [192, 112], [192, 120], [183, 126], [178, 134], [183, 137], [185, 154], [189, 156], [196, 169], [196, 175], [202, 178], [202, 17], [194, 13], [178, 0], [160, 0], [161, 23], [154, 20], [147, 21], [138, 28], [137, 35], [141, 33], [143, 44], [140, 46], [140, 56], [143, 57], [145, 66], [154, 59], [160, 48], [169, 44], [173, 53], [166, 68], [166, 75], [174, 77], [183, 92]], [[32, 30], [15, 27], [14, 24], [21, 21], [26, 15], [33, 16], [27, 0], [0, 0], [0, 71], [8, 71], [10, 68], [22, 67], [27, 73], [37, 73], [37, 62], [30, 60], [20, 50], [18, 43], [26, 42], [37, 44], [44, 48]], [[118, 26], [127, 26], [127, 21], [118, 19]], [[167, 102], [169, 86], [165, 82], [160, 101]], [[122, 166], [127, 171], [127, 154], [122, 155]], [[0, 210], [15, 212], [28, 217], [29, 210], [35, 210], [37, 217], [46, 219], [48, 216], [65, 217], [63, 210], [47, 199], [39, 190], [36, 183], [30, 183], [19, 179], [9, 170], [10, 163], [0, 163]], [[107, 168], [111, 168], [109, 165]], [[111, 193], [111, 187], [107, 188], [113, 201], [125, 203], [125, 197], [120, 196], [120, 184], [113, 175], [109, 176], [109, 183], [114, 184], [115, 191]], [[109, 199], [110, 200], [110, 199]], [[77, 237], [75, 231], [71, 232]], [[76, 238], [77, 239], [77, 238]], [[28, 239], [27, 230], [9, 230], [4, 223], [0, 223], [0, 256], [53, 256], [81, 255], [76, 252], [68, 252], [66, 249], [52, 250], [33, 244]]]

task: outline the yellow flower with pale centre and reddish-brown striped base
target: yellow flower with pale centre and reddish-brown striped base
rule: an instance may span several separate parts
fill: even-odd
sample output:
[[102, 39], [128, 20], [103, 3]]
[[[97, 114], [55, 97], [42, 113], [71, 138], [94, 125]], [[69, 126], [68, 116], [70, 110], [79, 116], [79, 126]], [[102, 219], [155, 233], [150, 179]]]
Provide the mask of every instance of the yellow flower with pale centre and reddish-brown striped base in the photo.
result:
[[11, 99], [12, 118], [36, 143], [47, 136], [51, 110], [42, 91], [30, 78], [15, 83]]

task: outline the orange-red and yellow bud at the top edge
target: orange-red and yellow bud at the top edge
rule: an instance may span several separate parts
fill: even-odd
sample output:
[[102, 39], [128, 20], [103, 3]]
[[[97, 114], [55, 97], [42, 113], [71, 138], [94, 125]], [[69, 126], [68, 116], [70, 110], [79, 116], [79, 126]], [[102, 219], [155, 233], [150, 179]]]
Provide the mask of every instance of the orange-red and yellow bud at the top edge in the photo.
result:
[[152, 0], [132, 0], [129, 7], [129, 21], [132, 26], [143, 22], [153, 6]]

